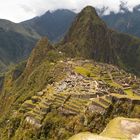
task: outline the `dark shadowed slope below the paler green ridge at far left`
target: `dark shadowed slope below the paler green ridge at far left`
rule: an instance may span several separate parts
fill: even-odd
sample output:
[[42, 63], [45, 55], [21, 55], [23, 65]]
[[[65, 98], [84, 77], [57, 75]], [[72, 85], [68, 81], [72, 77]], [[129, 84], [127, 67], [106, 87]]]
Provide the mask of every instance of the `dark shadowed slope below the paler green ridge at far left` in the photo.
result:
[[0, 71], [27, 58], [35, 42], [34, 38], [0, 28]]

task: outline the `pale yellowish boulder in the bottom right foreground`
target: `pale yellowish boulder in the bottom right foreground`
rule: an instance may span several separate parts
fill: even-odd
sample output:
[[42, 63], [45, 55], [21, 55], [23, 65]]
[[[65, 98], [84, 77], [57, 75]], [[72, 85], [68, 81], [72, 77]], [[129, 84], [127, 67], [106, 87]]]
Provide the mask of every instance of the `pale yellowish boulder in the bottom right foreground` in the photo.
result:
[[100, 135], [80, 133], [69, 140], [139, 140], [140, 120], [118, 117], [111, 120]]

